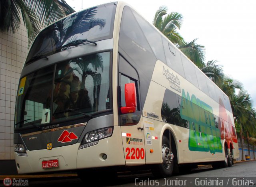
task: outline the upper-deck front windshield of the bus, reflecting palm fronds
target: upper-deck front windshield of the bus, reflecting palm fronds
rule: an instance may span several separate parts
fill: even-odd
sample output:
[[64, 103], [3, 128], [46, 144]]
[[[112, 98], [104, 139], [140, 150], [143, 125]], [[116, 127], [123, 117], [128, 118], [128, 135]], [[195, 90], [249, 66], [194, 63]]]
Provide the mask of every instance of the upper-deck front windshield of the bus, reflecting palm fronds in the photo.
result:
[[113, 36], [114, 3], [76, 12], [41, 31], [31, 47], [25, 66], [66, 49], [74, 41], [99, 41]]

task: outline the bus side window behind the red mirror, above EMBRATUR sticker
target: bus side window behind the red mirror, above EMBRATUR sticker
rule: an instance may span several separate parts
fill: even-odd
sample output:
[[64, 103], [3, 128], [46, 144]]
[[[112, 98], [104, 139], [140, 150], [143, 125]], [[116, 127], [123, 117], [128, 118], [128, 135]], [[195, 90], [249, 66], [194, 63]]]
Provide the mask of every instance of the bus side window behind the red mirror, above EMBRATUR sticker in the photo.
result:
[[129, 114], [120, 114], [120, 124], [122, 126], [124, 125], [136, 125], [140, 121], [141, 111], [140, 111], [140, 102], [139, 102], [139, 92], [138, 92], [138, 81], [135, 79], [131, 79], [130, 77], [127, 77], [125, 75], [122, 75], [120, 73], [120, 108], [123, 106], [126, 106], [125, 103], [125, 95], [124, 95], [124, 86], [126, 83], [135, 83], [136, 87], [136, 95], [137, 95], [137, 106], [136, 111], [134, 113]]

